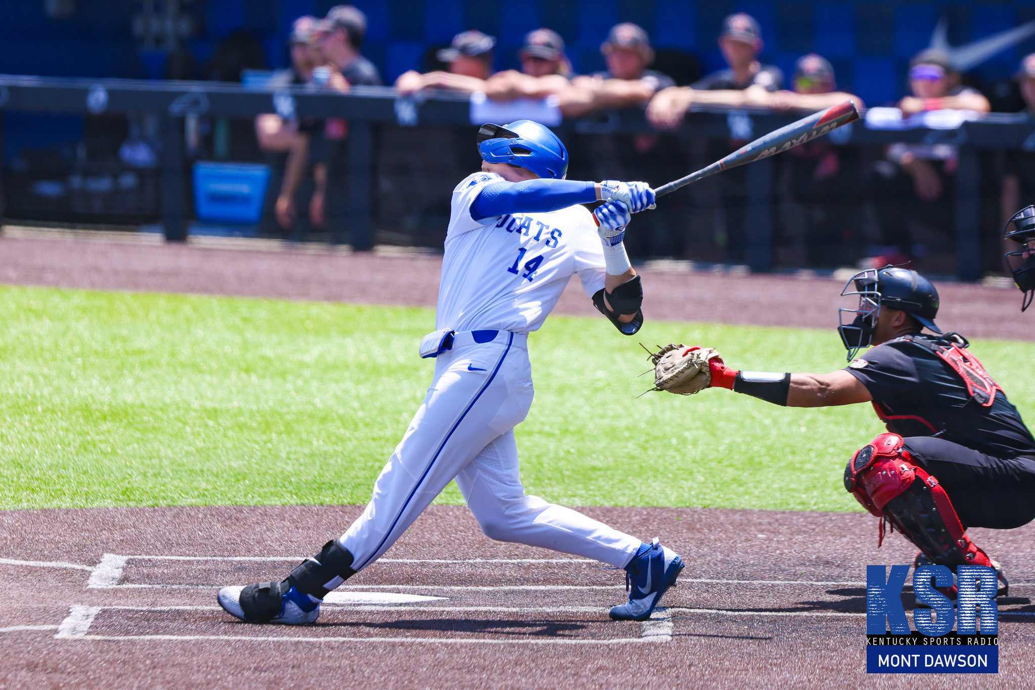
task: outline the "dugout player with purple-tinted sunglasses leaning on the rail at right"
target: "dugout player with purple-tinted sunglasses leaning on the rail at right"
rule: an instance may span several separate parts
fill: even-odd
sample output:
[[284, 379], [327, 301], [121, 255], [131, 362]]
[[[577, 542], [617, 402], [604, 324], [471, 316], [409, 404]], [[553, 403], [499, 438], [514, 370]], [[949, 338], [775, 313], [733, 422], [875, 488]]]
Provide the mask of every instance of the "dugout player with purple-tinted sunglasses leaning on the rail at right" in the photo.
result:
[[[904, 114], [939, 110], [988, 112], [988, 100], [959, 85], [949, 56], [928, 49], [910, 62], [912, 96], [898, 102]], [[883, 256], [875, 263], [905, 264], [921, 250], [911, 224], [954, 237], [955, 173], [958, 151], [952, 144], [892, 144], [877, 161], [869, 193], [881, 227]], [[1015, 209], [1014, 209], [1015, 210]], [[914, 246], [917, 245], [917, 246]]]

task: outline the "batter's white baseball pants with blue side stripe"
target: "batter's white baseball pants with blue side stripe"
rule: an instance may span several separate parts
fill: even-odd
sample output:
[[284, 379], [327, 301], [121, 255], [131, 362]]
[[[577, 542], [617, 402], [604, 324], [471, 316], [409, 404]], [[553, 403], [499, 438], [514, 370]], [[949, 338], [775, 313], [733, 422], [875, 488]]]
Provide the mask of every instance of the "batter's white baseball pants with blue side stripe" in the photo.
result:
[[352, 567], [380, 558], [454, 478], [489, 537], [624, 567], [639, 539], [525, 494], [513, 427], [528, 415], [532, 394], [525, 335], [457, 333], [436, 359], [432, 386], [366, 509], [341, 537]]

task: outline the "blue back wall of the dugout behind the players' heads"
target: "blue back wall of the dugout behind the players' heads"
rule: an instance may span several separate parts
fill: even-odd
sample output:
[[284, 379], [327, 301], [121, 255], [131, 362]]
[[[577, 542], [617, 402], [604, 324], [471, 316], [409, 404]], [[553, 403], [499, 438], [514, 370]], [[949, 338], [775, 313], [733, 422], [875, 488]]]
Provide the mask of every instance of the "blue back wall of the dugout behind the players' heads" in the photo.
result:
[[[268, 65], [287, 60], [284, 37], [303, 13], [322, 16], [331, 0], [199, 0], [193, 3], [204, 35], [189, 49], [197, 76], [219, 40], [244, 28], [261, 41]], [[762, 25], [764, 57], [785, 70], [795, 58], [816, 51], [830, 58], [839, 85], [867, 103], [896, 99], [909, 57], [924, 48], [939, 17], [949, 20], [949, 39], [964, 43], [1035, 19], [1035, 0], [998, 2], [891, 2], [818, 0], [355, 0], [369, 18], [364, 53], [387, 81], [419, 67], [431, 46], [448, 42], [464, 29], [498, 36], [499, 67], [516, 65], [525, 32], [549, 26], [568, 43], [578, 71], [602, 66], [599, 43], [617, 22], [644, 26], [656, 47], [696, 53], [708, 68], [721, 65], [715, 34], [722, 18], [747, 11]], [[71, 20], [55, 21], [43, 0], [5, 3], [0, 24], [0, 72], [80, 77], [156, 78], [164, 56], [140, 55], [129, 33], [140, 10], [134, 0], [78, 0]], [[976, 71], [984, 79], [1007, 77], [1021, 56], [1035, 51], [1028, 40]]]

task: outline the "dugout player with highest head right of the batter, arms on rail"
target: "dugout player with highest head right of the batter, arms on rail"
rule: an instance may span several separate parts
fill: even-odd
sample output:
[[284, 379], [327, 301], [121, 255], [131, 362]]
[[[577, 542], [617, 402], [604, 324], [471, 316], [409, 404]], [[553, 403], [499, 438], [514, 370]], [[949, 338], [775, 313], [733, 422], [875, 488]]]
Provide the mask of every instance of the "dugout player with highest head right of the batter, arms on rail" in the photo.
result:
[[718, 36], [719, 50], [729, 66], [691, 86], [660, 91], [647, 108], [647, 119], [657, 129], [674, 129], [694, 103], [768, 108], [769, 94], [783, 87], [783, 72], [759, 61], [764, 46], [753, 17], [744, 12], [730, 14], [722, 21]]

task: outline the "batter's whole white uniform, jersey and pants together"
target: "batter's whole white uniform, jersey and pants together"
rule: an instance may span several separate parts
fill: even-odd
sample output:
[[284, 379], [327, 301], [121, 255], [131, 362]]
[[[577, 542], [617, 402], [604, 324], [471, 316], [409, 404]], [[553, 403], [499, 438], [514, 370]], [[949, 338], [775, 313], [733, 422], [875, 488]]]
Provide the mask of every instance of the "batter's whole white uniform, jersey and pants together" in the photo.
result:
[[[616, 568], [642, 545], [631, 535], [528, 496], [522, 486], [513, 427], [534, 396], [525, 334], [542, 325], [572, 274], [592, 295], [603, 288], [605, 272], [596, 223], [581, 206], [472, 218], [474, 199], [502, 179], [476, 173], [453, 190], [436, 328], [457, 333], [435, 358], [424, 400], [369, 504], [339, 539], [356, 570], [390, 548], [453, 479], [493, 539]], [[476, 339], [470, 331], [482, 333]]]

